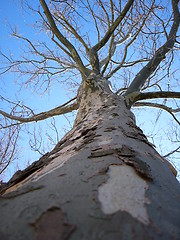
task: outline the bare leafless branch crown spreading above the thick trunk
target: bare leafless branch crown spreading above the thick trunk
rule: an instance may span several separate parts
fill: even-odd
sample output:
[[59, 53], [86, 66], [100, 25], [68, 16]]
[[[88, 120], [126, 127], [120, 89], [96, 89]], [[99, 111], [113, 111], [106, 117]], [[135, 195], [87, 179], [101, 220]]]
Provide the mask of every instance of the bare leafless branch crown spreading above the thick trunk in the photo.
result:
[[[4, 61], [1, 75], [12, 72], [20, 79], [26, 76], [22, 85], [35, 91], [46, 92], [55, 80], [58, 84], [79, 86], [79, 91], [68, 102], [37, 114], [24, 104], [1, 97], [11, 106], [10, 112], [0, 110], [1, 130], [17, 131], [13, 141], [12, 131], [9, 133], [7, 145], [1, 151], [15, 146], [19, 125], [77, 110], [80, 86], [92, 74], [108, 82], [129, 108], [160, 108], [180, 124], [177, 116], [180, 106], [175, 101], [180, 99], [176, 76], [179, 0], [172, 0], [171, 4], [162, 1], [161, 5], [155, 0], [39, 0], [37, 8], [29, 6], [28, 1], [27, 6], [38, 16], [35, 29], [47, 34], [35, 41], [11, 27], [12, 36], [24, 44], [25, 50], [19, 59], [1, 52]], [[166, 100], [165, 104], [142, 102], [160, 98]], [[167, 99], [174, 99], [174, 105], [166, 106]]]

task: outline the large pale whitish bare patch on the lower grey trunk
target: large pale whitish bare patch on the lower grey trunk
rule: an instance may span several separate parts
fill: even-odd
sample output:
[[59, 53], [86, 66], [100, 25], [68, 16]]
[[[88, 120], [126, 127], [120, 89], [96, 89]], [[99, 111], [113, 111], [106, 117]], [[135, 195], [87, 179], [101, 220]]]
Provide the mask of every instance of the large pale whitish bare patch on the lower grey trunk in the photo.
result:
[[149, 224], [145, 204], [148, 185], [134, 169], [127, 165], [110, 166], [109, 179], [98, 189], [98, 198], [105, 214], [126, 211], [145, 225]]

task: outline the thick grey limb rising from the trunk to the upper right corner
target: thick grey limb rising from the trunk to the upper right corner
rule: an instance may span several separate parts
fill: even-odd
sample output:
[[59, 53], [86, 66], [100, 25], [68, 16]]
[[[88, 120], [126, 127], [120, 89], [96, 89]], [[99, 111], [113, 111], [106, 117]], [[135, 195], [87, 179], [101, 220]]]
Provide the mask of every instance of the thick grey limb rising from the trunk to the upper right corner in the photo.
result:
[[128, 95], [135, 91], [140, 91], [147, 78], [155, 71], [161, 61], [166, 58], [166, 54], [174, 47], [176, 41], [176, 33], [180, 24], [178, 3], [179, 0], [172, 0], [174, 21], [168, 35], [168, 40], [155, 52], [155, 55], [151, 58], [149, 63], [143, 67], [141, 71], [136, 75], [125, 95]]

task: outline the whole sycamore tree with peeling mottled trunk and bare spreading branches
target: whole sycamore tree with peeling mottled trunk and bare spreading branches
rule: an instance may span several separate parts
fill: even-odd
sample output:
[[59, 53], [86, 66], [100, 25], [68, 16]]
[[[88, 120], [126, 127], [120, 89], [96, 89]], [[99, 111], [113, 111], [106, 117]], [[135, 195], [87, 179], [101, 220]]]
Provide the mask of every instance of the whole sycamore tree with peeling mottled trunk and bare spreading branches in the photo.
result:
[[179, 239], [176, 170], [131, 112], [135, 107], [168, 112], [179, 141], [179, 1], [27, 4], [49, 40], [33, 42], [12, 29], [28, 51], [18, 60], [1, 53], [2, 74], [26, 75], [25, 84], [35, 88], [48, 89], [60, 79], [78, 89], [68, 102], [41, 113], [1, 97], [12, 106], [11, 112], [0, 110], [1, 171], [16, 155], [24, 124], [74, 110], [77, 115], [53, 150], [2, 184], [0, 237]]

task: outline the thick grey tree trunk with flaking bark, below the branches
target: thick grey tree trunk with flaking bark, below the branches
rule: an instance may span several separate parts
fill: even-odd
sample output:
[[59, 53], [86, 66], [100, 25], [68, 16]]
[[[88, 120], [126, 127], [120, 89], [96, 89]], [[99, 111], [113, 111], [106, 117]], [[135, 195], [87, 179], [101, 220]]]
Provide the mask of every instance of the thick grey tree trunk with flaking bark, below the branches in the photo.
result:
[[0, 213], [0, 239], [180, 239], [180, 185], [123, 98], [94, 85], [73, 129], [10, 181]]

